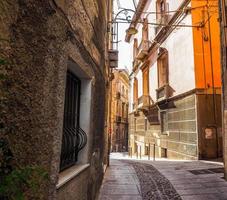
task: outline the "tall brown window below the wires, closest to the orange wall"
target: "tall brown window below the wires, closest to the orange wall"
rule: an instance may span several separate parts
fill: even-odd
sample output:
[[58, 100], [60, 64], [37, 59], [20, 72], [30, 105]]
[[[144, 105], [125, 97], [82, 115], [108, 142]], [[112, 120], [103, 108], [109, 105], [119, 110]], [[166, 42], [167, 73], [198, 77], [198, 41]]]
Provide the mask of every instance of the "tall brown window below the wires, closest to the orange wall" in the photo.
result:
[[168, 51], [164, 48], [160, 48], [158, 58], [158, 87], [163, 87], [169, 82], [169, 65], [168, 65]]

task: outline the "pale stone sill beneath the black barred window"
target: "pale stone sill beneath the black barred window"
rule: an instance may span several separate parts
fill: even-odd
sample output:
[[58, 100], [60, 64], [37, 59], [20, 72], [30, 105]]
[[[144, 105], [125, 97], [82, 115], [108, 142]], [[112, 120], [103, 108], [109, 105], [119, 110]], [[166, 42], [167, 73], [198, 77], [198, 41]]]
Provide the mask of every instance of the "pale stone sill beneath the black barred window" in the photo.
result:
[[64, 170], [59, 174], [59, 179], [57, 183], [57, 189], [65, 185], [67, 182], [72, 180], [74, 177], [79, 175], [82, 171], [87, 169], [90, 166], [90, 164], [83, 164], [83, 165], [74, 165], [70, 167], [69, 169]]

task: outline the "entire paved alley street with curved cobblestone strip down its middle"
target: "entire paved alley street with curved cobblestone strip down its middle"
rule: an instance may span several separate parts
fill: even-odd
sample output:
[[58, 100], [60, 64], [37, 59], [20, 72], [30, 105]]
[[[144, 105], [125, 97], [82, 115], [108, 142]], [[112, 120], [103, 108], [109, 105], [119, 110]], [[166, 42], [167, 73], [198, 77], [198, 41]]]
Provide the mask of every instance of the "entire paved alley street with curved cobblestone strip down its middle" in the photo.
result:
[[208, 161], [146, 161], [112, 155], [99, 200], [227, 200], [223, 165]]

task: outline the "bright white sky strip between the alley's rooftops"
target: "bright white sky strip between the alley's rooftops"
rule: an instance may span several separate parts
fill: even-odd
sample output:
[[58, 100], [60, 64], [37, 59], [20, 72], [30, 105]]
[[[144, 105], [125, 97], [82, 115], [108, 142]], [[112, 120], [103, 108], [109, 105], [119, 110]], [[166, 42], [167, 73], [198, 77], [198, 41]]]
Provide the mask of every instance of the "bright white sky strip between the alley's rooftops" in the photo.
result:
[[[119, 12], [118, 5], [120, 3], [120, 6], [123, 8], [130, 8], [134, 10], [133, 6], [133, 0], [114, 0], [114, 13]], [[124, 17], [124, 15], [121, 15], [121, 17]], [[130, 48], [129, 43], [125, 42], [125, 34], [126, 29], [129, 27], [129, 24], [119, 24], [119, 31], [118, 31], [118, 37], [121, 42], [119, 42], [118, 50], [119, 50], [119, 63], [118, 68], [124, 69], [127, 68], [129, 71], [131, 71], [132, 68], [132, 49]]]

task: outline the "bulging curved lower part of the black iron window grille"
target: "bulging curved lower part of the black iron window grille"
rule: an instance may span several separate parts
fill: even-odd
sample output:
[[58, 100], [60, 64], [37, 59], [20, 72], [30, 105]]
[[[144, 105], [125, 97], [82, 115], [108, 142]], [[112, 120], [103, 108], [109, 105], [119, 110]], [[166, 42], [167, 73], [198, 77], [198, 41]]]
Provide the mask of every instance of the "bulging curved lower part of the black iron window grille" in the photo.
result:
[[77, 162], [79, 151], [86, 143], [87, 135], [80, 127], [63, 129], [60, 171]]

